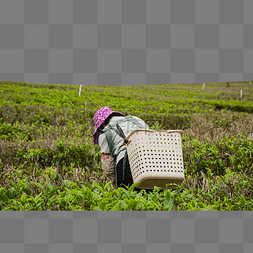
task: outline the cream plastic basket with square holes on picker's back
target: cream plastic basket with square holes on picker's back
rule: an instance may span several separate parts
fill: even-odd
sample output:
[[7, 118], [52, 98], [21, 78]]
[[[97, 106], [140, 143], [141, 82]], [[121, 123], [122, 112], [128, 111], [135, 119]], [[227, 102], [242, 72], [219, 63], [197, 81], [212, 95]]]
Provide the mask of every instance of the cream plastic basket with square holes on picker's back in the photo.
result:
[[137, 188], [165, 189], [166, 184], [184, 180], [182, 133], [182, 130], [136, 130], [126, 138], [133, 181], [140, 182]]

